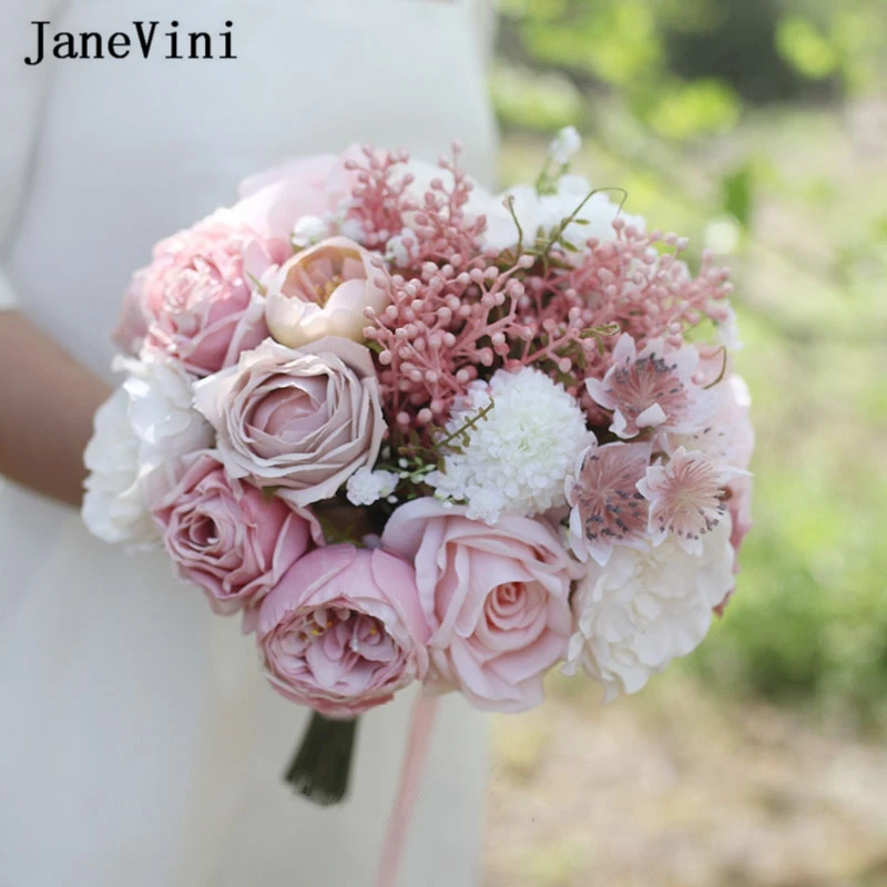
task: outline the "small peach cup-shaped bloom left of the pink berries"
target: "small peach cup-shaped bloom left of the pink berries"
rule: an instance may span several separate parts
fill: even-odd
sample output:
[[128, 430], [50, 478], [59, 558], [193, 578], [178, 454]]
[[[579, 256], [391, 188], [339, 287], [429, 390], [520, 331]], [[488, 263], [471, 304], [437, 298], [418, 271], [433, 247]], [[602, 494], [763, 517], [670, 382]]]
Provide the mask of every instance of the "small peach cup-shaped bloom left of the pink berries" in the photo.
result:
[[364, 340], [364, 315], [390, 303], [378, 256], [346, 237], [296, 253], [267, 283], [265, 318], [277, 341], [298, 348], [324, 336]]

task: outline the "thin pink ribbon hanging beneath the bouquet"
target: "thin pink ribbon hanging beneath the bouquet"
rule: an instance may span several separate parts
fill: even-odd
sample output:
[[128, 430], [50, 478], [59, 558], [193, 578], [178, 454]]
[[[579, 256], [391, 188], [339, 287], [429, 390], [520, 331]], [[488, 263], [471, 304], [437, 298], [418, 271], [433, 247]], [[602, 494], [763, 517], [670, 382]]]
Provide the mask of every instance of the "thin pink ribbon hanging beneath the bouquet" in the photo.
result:
[[385, 837], [385, 847], [381, 852], [379, 870], [376, 876], [376, 887], [396, 887], [397, 885], [397, 871], [400, 868], [400, 858], [404, 855], [404, 844], [406, 843], [412, 808], [419, 794], [419, 782], [421, 781], [425, 758], [428, 754], [428, 744], [431, 740], [436, 713], [437, 696], [429, 696], [420, 691], [412, 706], [409, 741], [404, 756], [404, 767], [400, 771], [400, 785], [397, 789], [391, 820], [388, 824], [388, 834]]

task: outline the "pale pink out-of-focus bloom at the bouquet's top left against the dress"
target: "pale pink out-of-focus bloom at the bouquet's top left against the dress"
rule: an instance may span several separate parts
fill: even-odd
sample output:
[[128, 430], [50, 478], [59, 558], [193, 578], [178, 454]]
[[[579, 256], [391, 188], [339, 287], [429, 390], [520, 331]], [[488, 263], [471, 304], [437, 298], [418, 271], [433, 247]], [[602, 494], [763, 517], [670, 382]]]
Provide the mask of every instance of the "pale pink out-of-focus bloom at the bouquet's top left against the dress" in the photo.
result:
[[275, 166], [241, 184], [241, 202], [233, 212], [264, 236], [289, 239], [303, 216], [335, 213], [357, 184], [345, 163], [359, 156], [359, 149], [343, 154], [298, 157]]

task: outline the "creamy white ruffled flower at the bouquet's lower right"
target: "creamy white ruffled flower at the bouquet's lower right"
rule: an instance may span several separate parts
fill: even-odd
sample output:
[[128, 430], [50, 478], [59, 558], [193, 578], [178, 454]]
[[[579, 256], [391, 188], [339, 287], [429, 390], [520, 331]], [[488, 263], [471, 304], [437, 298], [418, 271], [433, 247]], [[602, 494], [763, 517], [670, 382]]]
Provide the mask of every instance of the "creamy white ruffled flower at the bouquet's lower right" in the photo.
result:
[[578, 630], [565, 674], [583, 669], [604, 699], [635, 693], [677, 656], [703, 641], [712, 610], [734, 585], [731, 521], [705, 536], [689, 554], [674, 537], [643, 550], [618, 546], [606, 567], [589, 562], [573, 595]]

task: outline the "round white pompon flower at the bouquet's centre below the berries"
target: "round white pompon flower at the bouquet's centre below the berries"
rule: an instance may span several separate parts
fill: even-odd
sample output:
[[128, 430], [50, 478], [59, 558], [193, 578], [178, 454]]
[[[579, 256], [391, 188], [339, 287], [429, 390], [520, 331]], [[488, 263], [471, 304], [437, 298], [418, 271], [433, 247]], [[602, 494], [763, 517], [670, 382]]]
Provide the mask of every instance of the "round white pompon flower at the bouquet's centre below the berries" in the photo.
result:
[[499, 370], [471, 385], [446, 430], [463, 428], [478, 411], [492, 408], [468, 429], [468, 443], [445, 452], [443, 470], [427, 481], [439, 499], [465, 502], [467, 517], [495, 523], [502, 512], [532, 516], [565, 504], [564, 478], [589, 442], [578, 401], [544, 373], [524, 367]]

